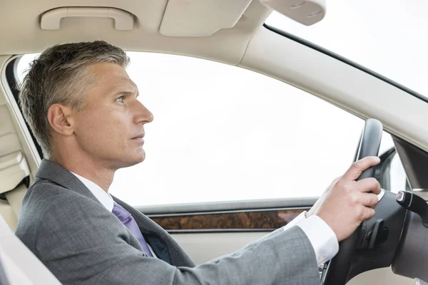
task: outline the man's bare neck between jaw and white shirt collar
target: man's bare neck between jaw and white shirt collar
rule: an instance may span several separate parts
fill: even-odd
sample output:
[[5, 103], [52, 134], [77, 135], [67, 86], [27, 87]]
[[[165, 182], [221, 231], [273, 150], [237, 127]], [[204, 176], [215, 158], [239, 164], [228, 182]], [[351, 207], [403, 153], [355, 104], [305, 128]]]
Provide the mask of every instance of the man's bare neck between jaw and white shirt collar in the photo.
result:
[[116, 172], [116, 170], [103, 165], [102, 162], [92, 160], [91, 157], [55, 154], [50, 160], [68, 171], [91, 180], [106, 192], [108, 192], [108, 188], [113, 182], [114, 172]]

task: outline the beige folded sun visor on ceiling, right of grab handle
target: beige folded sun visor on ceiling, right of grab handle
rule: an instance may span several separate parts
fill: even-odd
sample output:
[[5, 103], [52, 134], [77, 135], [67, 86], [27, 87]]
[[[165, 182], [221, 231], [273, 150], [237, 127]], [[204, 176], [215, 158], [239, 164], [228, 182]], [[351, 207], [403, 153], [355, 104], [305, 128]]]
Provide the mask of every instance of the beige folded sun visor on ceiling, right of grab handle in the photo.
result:
[[211, 36], [233, 28], [252, 0], [169, 0], [160, 32], [163, 36]]

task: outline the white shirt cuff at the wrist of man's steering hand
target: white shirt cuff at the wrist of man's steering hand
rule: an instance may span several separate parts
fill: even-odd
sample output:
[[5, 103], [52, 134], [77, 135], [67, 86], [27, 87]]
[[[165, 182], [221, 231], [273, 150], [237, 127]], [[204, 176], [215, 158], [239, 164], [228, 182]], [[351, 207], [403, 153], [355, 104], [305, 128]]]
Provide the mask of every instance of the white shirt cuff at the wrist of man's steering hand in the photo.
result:
[[315, 251], [317, 264], [329, 261], [339, 251], [339, 242], [332, 228], [315, 214], [297, 224], [305, 232]]

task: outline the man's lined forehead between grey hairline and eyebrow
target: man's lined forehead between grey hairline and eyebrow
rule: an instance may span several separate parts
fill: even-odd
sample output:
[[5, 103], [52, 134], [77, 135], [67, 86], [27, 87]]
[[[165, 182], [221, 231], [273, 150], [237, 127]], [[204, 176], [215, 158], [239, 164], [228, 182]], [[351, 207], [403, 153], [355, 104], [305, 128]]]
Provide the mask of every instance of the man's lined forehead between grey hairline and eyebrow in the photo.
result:
[[89, 66], [89, 71], [95, 77], [96, 88], [110, 90], [127, 88], [131, 89], [131, 92], [137, 89], [126, 69], [116, 63], [95, 63]]

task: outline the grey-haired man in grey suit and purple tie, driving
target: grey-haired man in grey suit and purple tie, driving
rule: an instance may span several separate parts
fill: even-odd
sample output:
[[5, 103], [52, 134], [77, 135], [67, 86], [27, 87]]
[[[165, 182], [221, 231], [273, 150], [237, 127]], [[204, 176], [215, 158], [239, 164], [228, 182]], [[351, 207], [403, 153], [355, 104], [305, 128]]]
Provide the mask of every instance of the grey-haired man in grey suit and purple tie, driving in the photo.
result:
[[32, 63], [20, 100], [45, 159], [16, 235], [63, 284], [319, 284], [317, 264], [374, 215], [379, 183], [355, 180], [379, 158], [353, 164], [297, 226], [195, 266], [161, 227], [108, 195], [116, 170], [144, 160], [153, 120], [127, 64], [103, 41], [54, 46]]

